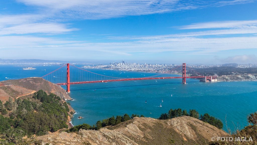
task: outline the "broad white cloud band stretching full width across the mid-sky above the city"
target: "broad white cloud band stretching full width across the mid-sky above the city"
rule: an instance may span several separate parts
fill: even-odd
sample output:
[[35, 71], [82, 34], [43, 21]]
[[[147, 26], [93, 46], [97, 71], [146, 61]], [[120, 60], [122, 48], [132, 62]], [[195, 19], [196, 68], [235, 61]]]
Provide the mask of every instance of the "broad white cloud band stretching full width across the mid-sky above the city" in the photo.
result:
[[[92, 43], [57, 38], [41, 38], [30, 36], [0, 37], [1, 49], [59, 50], [60, 54], [72, 52], [112, 52], [130, 55], [133, 53], [190, 52], [191, 54], [211, 54], [223, 50], [257, 48], [257, 37], [230, 38], [168, 38], [158, 40], [139, 40], [129, 42]], [[63, 52], [65, 50], [65, 53]], [[81, 56], [82, 57], [82, 56]]]

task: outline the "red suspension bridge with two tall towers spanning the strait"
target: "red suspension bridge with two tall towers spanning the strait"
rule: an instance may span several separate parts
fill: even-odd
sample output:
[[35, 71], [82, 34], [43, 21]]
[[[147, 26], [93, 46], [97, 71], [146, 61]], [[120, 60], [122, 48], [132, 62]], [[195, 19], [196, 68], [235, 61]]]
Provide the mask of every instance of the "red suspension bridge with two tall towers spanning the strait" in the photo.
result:
[[[181, 65], [174, 67], [170, 70], [176, 70]], [[98, 82], [115, 82], [115, 81], [132, 81], [132, 80], [157, 80], [157, 79], [182, 79], [182, 84], [186, 84], [187, 78], [204, 78], [204, 82], [206, 81], [216, 81], [217, 76], [204, 76], [195, 70], [192, 69], [197, 76], [187, 76], [186, 75], [186, 63], [182, 64], [182, 76], [178, 76], [177, 74], [170, 73], [158, 73], [153, 76], [147, 76], [143, 78], [118, 78], [113, 76], [106, 76], [102, 74], [97, 74], [94, 72], [90, 72], [83, 68], [77, 67], [73, 64], [65, 64], [60, 68], [42, 76], [41, 78], [48, 80], [52, 83], [56, 83], [57, 85], [66, 85], [67, 92], [70, 92], [71, 84], [85, 84], [85, 83], [98, 83]]]

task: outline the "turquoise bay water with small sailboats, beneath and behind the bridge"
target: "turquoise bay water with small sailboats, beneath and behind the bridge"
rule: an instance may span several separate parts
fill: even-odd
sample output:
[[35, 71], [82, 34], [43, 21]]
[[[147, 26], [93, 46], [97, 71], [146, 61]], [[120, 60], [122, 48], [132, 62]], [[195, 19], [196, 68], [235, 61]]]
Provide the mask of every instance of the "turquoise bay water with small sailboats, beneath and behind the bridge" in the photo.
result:
[[[6, 80], [5, 77], [19, 79], [43, 76], [58, 67], [60, 66], [35, 66], [37, 70], [25, 71], [18, 66], [0, 65], [0, 80]], [[155, 74], [100, 69], [90, 71], [116, 77]], [[225, 118], [228, 127], [234, 130], [246, 126], [247, 115], [257, 111], [257, 82], [204, 83], [187, 79], [187, 83], [181, 84], [181, 79], [165, 79], [157, 82], [140, 80], [71, 85], [70, 96], [74, 101], [69, 102], [77, 112], [72, 118], [72, 124], [93, 125], [98, 120], [125, 113], [158, 118], [170, 108], [181, 108], [188, 111], [196, 109], [200, 114], [209, 113], [217, 117], [222, 120], [226, 131]], [[162, 107], [158, 107], [162, 99]], [[84, 118], [77, 119], [78, 116]]]

